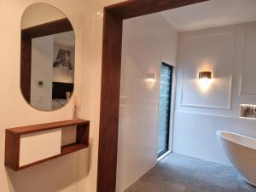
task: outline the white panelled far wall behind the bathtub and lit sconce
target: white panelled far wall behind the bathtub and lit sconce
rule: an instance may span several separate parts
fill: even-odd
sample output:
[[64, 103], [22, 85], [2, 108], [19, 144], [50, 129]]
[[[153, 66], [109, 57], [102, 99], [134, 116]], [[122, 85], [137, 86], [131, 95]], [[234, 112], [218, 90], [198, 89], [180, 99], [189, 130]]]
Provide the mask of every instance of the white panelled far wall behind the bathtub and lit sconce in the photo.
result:
[[[255, 29], [248, 23], [179, 33], [174, 152], [230, 165], [215, 131], [256, 137], [256, 121], [238, 118], [240, 103], [256, 103]], [[212, 71], [207, 90], [201, 70]]]

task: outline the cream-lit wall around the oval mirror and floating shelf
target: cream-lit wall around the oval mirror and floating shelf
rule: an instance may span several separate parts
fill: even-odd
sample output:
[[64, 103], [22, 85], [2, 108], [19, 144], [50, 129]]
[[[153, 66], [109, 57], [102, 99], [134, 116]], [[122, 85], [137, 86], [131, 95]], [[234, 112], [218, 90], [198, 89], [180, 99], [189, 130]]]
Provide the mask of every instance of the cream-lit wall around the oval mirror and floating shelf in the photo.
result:
[[[58, 120], [72, 119], [73, 102], [53, 112], [38, 111], [26, 103], [20, 91], [20, 20], [21, 16], [32, 3], [37, 0], [2, 0], [0, 1], [0, 66], [3, 70], [0, 76], [1, 84], [1, 109], [0, 109], [0, 191], [1, 192], [76, 192], [96, 191], [96, 162], [98, 136], [94, 131], [98, 130], [98, 119], [92, 118], [91, 113], [99, 113], [97, 105], [89, 105], [86, 102], [99, 103], [100, 91], [94, 89], [99, 86], [100, 73], [95, 77], [84, 77], [84, 81], [97, 82], [95, 86], [85, 87], [81, 104], [82, 94], [82, 68], [88, 64], [84, 52], [89, 49], [101, 49], [96, 47], [100, 44], [84, 44], [86, 38], [96, 38], [93, 33], [93, 19], [102, 20], [90, 11], [90, 3], [78, 0], [70, 3], [68, 0], [44, 0], [40, 2], [50, 3], [61, 9], [73, 24], [76, 33], [76, 68], [75, 68], [75, 95], [79, 102], [79, 117], [90, 119], [90, 149], [84, 149], [78, 153], [68, 154], [56, 160], [50, 160], [38, 166], [32, 166], [20, 172], [13, 172], [4, 166], [4, 131], [6, 128], [33, 125]], [[91, 8], [93, 10], [93, 8]], [[86, 31], [84, 27], [86, 26]], [[102, 31], [96, 30], [97, 34]], [[101, 55], [101, 54], [100, 54]], [[96, 55], [97, 57], [98, 55]], [[100, 57], [100, 56], [99, 56]], [[95, 64], [96, 61], [90, 61]], [[100, 71], [100, 67], [91, 69], [93, 72]], [[88, 95], [90, 93], [94, 97]], [[84, 111], [81, 110], [81, 106]], [[90, 159], [91, 158], [91, 159]]]

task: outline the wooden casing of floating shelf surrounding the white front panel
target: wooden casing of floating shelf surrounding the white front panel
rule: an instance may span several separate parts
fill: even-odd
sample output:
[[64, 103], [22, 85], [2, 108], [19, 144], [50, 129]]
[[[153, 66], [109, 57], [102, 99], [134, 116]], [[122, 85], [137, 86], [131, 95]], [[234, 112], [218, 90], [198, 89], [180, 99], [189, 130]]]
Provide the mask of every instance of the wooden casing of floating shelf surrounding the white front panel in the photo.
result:
[[[21, 136], [23, 135], [26, 136], [32, 133], [40, 134], [40, 132], [43, 132], [43, 131], [45, 132], [50, 130], [65, 129], [66, 127], [70, 127], [72, 125], [76, 125], [76, 129], [77, 129], [76, 143], [68, 144], [66, 146], [60, 145], [60, 153], [20, 166], [20, 137]], [[83, 148], [88, 148], [89, 147], [89, 131], [90, 131], [90, 121], [84, 120], [84, 119], [71, 119], [71, 120], [59, 121], [54, 123], [28, 125], [28, 126], [21, 126], [21, 127], [7, 129], [5, 131], [5, 135], [6, 135], [5, 166], [9, 166], [9, 168], [15, 171], [19, 171], [29, 166], [35, 166], [39, 163], [43, 163], [48, 160], [53, 160], [57, 157], [60, 157], [66, 154], [71, 154]], [[44, 143], [42, 143], [42, 145], [44, 145]]]

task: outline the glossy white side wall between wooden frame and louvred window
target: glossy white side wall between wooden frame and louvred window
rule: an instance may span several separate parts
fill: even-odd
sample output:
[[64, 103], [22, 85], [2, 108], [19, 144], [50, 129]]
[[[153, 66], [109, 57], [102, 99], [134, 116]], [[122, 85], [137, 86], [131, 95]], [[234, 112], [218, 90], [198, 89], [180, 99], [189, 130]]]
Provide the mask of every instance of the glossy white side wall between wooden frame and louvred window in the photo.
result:
[[[157, 162], [160, 67], [162, 61], [176, 66], [177, 55], [177, 32], [161, 15], [125, 20], [123, 32], [118, 192]], [[153, 86], [147, 73], [155, 74]]]

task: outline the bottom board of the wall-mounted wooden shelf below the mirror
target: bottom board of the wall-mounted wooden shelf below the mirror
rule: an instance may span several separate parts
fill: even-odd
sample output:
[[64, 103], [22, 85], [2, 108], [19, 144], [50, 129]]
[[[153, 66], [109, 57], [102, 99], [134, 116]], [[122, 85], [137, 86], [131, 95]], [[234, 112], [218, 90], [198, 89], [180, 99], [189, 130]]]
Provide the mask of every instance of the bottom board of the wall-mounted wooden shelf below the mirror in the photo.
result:
[[[33, 162], [31, 164], [28, 164], [26, 166], [20, 166], [18, 167], [17, 169], [15, 169], [15, 171], [20, 171], [22, 169], [26, 169], [30, 166], [35, 166], [35, 165], [38, 165], [40, 163], [44, 163], [46, 161], [49, 161], [49, 160], [53, 160], [55, 158], [58, 158], [58, 157], [61, 157], [61, 156], [64, 156], [66, 154], [71, 154], [73, 152], [76, 152], [76, 151], [79, 151], [79, 150], [82, 150], [84, 148], [88, 148], [89, 146], [88, 145], [85, 145], [85, 144], [82, 144], [82, 143], [73, 143], [73, 144], [70, 144], [70, 145], [67, 145], [67, 146], [63, 146], [61, 147], [61, 154], [57, 154], [55, 156], [52, 156], [52, 157], [49, 157], [49, 158], [46, 158], [44, 160], [38, 160], [36, 162]], [[6, 165], [7, 166], [7, 165]], [[11, 167], [10, 167], [11, 168]], [[11, 168], [13, 169], [13, 168]]]

